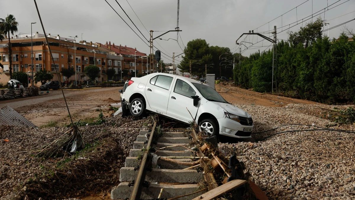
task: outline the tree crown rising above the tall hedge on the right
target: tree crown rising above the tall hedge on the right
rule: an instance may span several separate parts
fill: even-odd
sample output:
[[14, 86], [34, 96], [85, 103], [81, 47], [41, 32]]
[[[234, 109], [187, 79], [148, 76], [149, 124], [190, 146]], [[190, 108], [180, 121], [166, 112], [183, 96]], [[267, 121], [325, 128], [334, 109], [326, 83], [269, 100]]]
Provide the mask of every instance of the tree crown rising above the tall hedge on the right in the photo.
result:
[[322, 37], [322, 27], [324, 21], [321, 18], [318, 18], [314, 22], [307, 23], [306, 26], [301, 27], [300, 31], [290, 32], [289, 41], [293, 43], [294, 46], [302, 43], [307, 48], [308, 45], [317, 40], [317, 38]]

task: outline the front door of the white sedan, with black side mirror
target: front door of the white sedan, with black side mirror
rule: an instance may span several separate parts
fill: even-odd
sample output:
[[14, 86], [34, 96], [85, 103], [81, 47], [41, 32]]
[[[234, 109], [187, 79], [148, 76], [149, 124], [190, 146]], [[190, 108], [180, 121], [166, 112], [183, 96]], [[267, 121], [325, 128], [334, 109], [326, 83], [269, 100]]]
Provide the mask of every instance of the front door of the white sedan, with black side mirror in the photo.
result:
[[166, 114], [188, 123], [196, 116], [198, 105], [194, 106], [191, 98], [191, 96], [196, 96], [196, 91], [189, 83], [179, 78], [176, 78], [173, 87], [169, 95]]

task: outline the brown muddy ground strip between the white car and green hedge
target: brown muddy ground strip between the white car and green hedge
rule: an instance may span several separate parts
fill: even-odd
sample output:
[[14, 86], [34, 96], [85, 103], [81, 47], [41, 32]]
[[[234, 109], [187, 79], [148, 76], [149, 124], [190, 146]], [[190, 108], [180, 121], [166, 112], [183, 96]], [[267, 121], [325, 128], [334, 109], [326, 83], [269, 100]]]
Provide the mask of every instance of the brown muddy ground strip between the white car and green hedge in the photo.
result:
[[281, 107], [287, 104], [321, 104], [314, 101], [258, 93], [235, 87], [232, 83], [216, 84], [215, 89], [225, 100], [232, 104], [261, 105], [269, 107]]

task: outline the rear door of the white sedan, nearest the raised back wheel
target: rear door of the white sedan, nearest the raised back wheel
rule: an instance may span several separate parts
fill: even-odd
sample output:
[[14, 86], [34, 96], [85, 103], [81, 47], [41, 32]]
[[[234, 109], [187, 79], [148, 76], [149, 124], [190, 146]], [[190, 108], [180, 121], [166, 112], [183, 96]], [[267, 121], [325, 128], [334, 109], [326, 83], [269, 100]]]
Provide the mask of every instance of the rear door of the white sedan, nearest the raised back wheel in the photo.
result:
[[148, 80], [145, 94], [152, 111], [166, 114], [173, 79], [168, 75], [156, 75]]

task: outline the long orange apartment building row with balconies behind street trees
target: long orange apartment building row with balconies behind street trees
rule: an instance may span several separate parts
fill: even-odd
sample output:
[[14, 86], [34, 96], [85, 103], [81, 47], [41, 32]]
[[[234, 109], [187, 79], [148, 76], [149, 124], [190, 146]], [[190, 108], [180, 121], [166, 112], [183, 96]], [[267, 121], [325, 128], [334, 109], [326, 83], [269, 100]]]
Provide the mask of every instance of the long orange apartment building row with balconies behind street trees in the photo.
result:
[[[50, 58], [48, 44], [44, 35], [36, 32], [32, 38], [32, 41], [34, 74], [40, 69], [46, 69], [51, 73], [54, 73], [53, 80], [58, 80], [55, 75], [55, 68], [57, 68], [58, 72], [60, 73], [62, 69], [74, 67], [74, 65], [76, 69], [76, 78], [80, 81], [86, 81], [89, 79], [84, 74], [84, 68], [89, 65], [96, 65], [100, 68], [100, 78], [97, 79], [98, 81], [107, 80], [107, 75], [105, 74], [107, 68], [114, 68], [116, 71], [114, 79], [119, 80], [121, 78], [121, 63], [123, 63], [122, 70], [127, 69], [130, 72], [133, 72], [132, 69], [134, 70], [134, 53], [136, 49], [133, 51], [133, 48], [130, 47], [122, 47], [121, 51], [115, 51], [117, 48], [114, 46], [114, 44], [111, 46], [103, 45], [101, 43], [93, 44], [92, 42], [88, 43], [86, 41], [74, 43], [72, 39], [62, 38], [59, 35], [51, 36], [48, 34], [48, 41], [49, 45], [51, 46], [51, 51], [54, 58], [53, 63]], [[15, 38], [11, 38], [11, 44], [12, 71], [22, 71], [28, 73], [29, 77], [31, 77], [31, 35], [21, 38], [15, 36]], [[133, 56], [131, 55], [132, 51]], [[7, 81], [10, 79], [10, 58], [6, 38], [4, 41], [0, 42], [0, 56], [2, 57], [0, 62], [4, 66], [4, 69], [0, 68], [0, 82], [7, 83]], [[141, 74], [142, 67], [143, 72], [147, 72], [146, 57], [143, 59], [143, 56], [146, 55], [138, 51], [136, 52], [137, 74]], [[70, 80], [75, 80], [75, 75], [72, 76], [68, 81]], [[65, 77], [62, 76], [61, 73], [60, 81], [65, 81]], [[37, 83], [36, 85], [39, 86], [40, 83]]]

